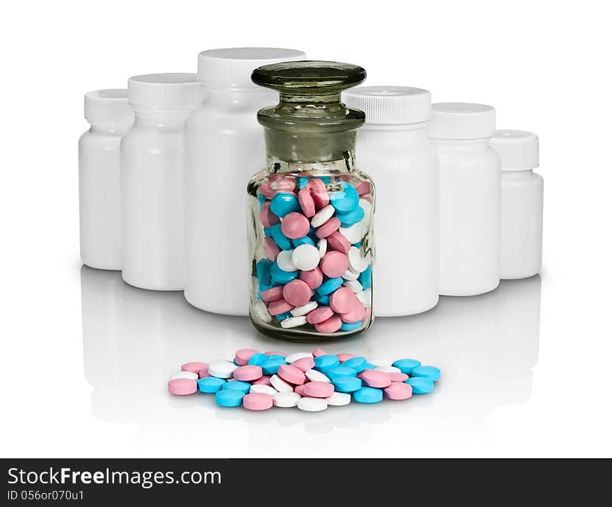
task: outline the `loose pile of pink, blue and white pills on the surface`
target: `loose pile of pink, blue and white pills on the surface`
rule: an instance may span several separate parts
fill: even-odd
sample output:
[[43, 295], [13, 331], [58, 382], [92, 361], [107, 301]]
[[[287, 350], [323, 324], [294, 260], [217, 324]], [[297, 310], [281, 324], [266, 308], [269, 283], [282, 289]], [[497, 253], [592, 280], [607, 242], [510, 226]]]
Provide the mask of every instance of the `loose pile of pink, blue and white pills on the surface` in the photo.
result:
[[329, 405], [378, 403], [409, 399], [431, 392], [440, 369], [422, 366], [415, 359], [373, 364], [353, 354], [312, 353], [291, 355], [250, 348], [236, 351], [234, 361], [188, 362], [168, 382], [172, 394], [202, 392], [215, 395], [222, 407], [247, 410], [298, 407], [307, 412]]

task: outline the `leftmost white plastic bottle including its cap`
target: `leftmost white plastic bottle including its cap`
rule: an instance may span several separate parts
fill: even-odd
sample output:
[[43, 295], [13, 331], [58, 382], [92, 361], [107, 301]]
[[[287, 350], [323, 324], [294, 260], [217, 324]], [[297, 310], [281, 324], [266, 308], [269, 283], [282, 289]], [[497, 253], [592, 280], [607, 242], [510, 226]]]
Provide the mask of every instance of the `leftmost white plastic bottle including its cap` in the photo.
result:
[[134, 123], [127, 90], [85, 94], [91, 127], [79, 138], [81, 260], [99, 269], [121, 269], [119, 143]]

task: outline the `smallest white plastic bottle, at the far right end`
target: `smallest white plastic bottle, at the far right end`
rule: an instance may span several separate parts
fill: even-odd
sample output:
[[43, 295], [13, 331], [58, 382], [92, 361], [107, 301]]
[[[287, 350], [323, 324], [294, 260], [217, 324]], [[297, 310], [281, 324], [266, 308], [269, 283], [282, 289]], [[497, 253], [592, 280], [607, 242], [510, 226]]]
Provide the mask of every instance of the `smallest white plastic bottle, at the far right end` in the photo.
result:
[[526, 278], [542, 266], [544, 180], [538, 136], [521, 130], [497, 130], [491, 146], [501, 159], [501, 278]]

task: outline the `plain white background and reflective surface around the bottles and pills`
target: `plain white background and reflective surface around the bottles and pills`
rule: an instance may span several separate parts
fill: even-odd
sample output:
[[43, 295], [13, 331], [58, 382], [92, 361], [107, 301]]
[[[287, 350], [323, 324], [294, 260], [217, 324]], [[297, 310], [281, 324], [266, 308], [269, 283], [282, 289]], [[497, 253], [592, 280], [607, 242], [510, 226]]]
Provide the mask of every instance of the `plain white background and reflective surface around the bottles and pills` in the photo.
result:
[[[342, 6], [344, 5], [344, 7]], [[20, 1], [1, 42], [2, 456], [611, 456], [612, 163], [606, 2]], [[236, 348], [298, 351], [181, 293], [81, 268], [83, 93], [273, 46], [357, 63], [368, 84], [483, 102], [540, 136], [541, 278], [378, 319], [332, 352], [420, 357], [435, 394], [375, 406], [218, 410], [168, 374]], [[376, 175], [373, 175], [376, 179]], [[241, 200], [242, 188], [236, 189]], [[231, 287], [227, 288], [231, 290]], [[541, 301], [541, 304], [540, 304]]]

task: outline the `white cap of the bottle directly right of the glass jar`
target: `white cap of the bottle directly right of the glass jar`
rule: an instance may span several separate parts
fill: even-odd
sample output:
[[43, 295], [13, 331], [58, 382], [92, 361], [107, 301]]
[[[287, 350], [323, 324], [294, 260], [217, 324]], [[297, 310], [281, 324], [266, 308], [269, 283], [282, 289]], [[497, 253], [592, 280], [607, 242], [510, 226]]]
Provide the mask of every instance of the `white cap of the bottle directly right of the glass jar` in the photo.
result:
[[348, 107], [366, 113], [367, 124], [407, 125], [428, 122], [431, 94], [408, 86], [360, 86], [342, 94]]

